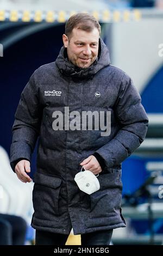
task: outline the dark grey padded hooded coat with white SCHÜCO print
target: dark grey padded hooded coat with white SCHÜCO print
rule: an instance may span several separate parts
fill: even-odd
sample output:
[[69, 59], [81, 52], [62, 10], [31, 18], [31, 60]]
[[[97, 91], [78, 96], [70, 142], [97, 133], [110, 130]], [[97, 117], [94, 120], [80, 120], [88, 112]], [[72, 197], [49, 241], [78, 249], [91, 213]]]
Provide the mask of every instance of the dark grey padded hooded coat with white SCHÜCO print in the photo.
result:
[[[60, 96], [46, 92], [53, 90]], [[95, 129], [54, 131], [52, 114], [64, 113], [65, 106], [70, 112], [111, 111], [110, 135], [101, 136]], [[102, 40], [97, 60], [87, 69], [68, 62], [62, 47], [56, 62], [34, 72], [15, 114], [13, 169], [18, 159], [30, 161], [39, 136], [32, 227], [61, 234], [69, 234], [72, 227], [74, 234], [125, 227], [121, 163], [145, 139], [147, 126], [139, 93], [125, 72], [110, 65]], [[74, 176], [79, 163], [93, 153], [103, 159], [105, 168], [98, 176], [100, 190], [88, 195], [79, 190]]]

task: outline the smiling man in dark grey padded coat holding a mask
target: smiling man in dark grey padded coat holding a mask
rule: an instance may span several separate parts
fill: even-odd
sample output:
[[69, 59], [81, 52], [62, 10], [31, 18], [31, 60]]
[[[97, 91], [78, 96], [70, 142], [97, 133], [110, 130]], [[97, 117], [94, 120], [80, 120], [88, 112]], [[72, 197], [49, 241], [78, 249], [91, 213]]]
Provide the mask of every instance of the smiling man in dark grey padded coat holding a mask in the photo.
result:
[[[93, 16], [71, 16], [57, 60], [34, 72], [15, 114], [11, 166], [23, 182], [31, 181], [30, 156], [39, 136], [36, 245], [65, 245], [72, 228], [82, 245], [109, 245], [112, 229], [126, 227], [121, 163], [145, 139], [148, 119], [130, 77], [110, 65], [100, 32]], [[85, 123], [84, 114], [95, 124]], [[99, 174], [100, 189], [92, 194], [74, 181], [82, 166]]]

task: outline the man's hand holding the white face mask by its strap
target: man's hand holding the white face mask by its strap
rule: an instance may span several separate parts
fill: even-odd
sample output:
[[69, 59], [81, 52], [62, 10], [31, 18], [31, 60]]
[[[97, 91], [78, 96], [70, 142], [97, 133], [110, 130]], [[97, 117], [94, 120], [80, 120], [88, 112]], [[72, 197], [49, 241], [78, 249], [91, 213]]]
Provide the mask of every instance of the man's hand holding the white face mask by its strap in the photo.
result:
[[86, 170], [90, 170], [95, 175], [102, 172], [102, 168], [99, 165], [99, 162], [97, 161], [96, 157], [93, 155], [84, 159], [83, 162], [80, 163], [80, 166], [84, 166]]

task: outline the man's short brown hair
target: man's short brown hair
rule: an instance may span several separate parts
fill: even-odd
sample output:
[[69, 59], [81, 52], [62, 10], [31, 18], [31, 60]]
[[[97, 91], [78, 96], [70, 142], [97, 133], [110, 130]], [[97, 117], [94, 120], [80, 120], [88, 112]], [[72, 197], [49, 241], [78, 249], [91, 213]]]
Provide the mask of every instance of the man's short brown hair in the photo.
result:
[[65, 34], [70, 38], [73, 28], [82, 29], [91, 32], [93, 28], [97, 28], [99, 35], [101, 34], [101, 26], [95, 17], [91, 14], [78, 13], [72, 15], [66, 22]]

